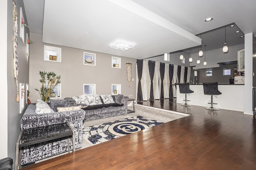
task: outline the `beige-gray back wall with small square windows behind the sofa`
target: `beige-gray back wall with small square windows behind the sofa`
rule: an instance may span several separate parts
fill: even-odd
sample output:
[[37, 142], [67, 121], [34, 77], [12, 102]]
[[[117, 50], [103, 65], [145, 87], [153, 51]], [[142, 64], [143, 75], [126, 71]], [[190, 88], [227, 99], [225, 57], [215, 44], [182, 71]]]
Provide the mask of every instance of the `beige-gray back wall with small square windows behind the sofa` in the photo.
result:
[[[113, 55], [96, 53], [82, 49], [61, 47], [42, 43], [42, 35], [30, 33], [34, 43], [30, 46], [30, 100], [36, 102], [39, 93], [34, 90], [39, 88], [39, 71], [53, 71], [61, 75], [61, 98], [83, 94], [83, 84], [96, 84], [96, 94], [111, 94], [111, 84], [121, 84], [121, 93], [130, 98], [135, 98], [135, 81], [129, 84], [126, 81], [126, 63], [132, 63], [132, 78], [136, 78], [136, 60], [126, 57], [121, 58], [121, 68], [112, 68]], [[44, 61], [44, 45], [60, 47], [62, 49], [61, 62]], [[83, 64], [83, 53], [96, 54], [96, 66]], [[124, 52], [125, 53], [125, 52]], [[119, 57], [119, 56], [113, 56]]]

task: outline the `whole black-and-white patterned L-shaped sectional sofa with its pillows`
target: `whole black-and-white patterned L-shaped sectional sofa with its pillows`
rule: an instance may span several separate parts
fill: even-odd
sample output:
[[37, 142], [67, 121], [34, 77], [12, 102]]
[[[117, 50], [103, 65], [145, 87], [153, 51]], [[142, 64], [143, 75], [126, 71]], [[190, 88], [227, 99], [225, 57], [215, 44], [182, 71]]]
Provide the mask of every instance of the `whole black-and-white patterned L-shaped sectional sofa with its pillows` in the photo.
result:
[[[102, 99], [103, 98], [103, 99]], [[112, 100], [110, 100], [112, 99]], [[83, 122], [127, 114], [128, 97], [123, 95], [80, 95], [64, 100], [50, 100], [45, 104], [38, 100], [29, 104], [20, 121], [21, 129], [44, 127], [68, 122], [75, 133], [75, 149], [82, 147]], [[43, 107], [39, 107], [40, 104]], [[21, 165], [48, 158], [68, 151], [67, 138], [23, 147]], [[52, 149], [54, 147], [54, 149]], [[73, 149], [70, 137], [70, 149]]]

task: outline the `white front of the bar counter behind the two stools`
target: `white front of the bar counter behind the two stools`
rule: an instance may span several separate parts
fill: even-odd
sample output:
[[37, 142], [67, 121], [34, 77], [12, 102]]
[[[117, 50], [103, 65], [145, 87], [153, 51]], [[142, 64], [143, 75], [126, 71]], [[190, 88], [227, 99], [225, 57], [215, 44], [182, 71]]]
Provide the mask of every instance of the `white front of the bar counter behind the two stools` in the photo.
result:
[[[188, 104], [194, 106], [210, 107], [211, 96], [204, 95], [202, 84], [190, 84], [190, 89], [194, 93], [187, 94]], [[213, 96], [214, 107], [218, 109], [234, 110], [244, 112], [244, 84], [218, 84], [221, 95]], [[184, 104], [185, 94], [180, 94], [177, 85], [176, 103]]]

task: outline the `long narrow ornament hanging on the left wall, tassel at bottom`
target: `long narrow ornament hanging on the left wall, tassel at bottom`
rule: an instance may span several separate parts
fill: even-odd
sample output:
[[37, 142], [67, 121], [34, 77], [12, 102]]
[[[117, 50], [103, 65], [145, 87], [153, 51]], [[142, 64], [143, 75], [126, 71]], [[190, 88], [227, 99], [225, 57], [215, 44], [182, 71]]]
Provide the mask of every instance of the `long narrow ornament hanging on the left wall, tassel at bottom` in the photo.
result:
[[18, 76], [19, 76], [19, 68], [18, 68], [18, 11], [16, 8], [16, 4], [13, 1], [13, 47], [14, 47], [14, 77], [16, 78], [16, 86], [17, 86], [17, 94], [16, 94], [16, 102], [20, 101], [19, 90], [18, 90]]

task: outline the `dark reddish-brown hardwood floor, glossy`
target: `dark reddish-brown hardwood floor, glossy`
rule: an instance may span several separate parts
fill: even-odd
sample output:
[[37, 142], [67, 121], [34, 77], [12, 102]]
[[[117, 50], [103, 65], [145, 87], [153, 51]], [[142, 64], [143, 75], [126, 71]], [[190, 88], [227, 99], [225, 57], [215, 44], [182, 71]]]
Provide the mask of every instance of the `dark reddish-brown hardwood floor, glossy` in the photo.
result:
[[[184, 112], [175, 99], [138, 104]], [[190, 116], [53, 158], [26, 169], [253, 170], [256, 121], [242, 112], [187, 107]]]

